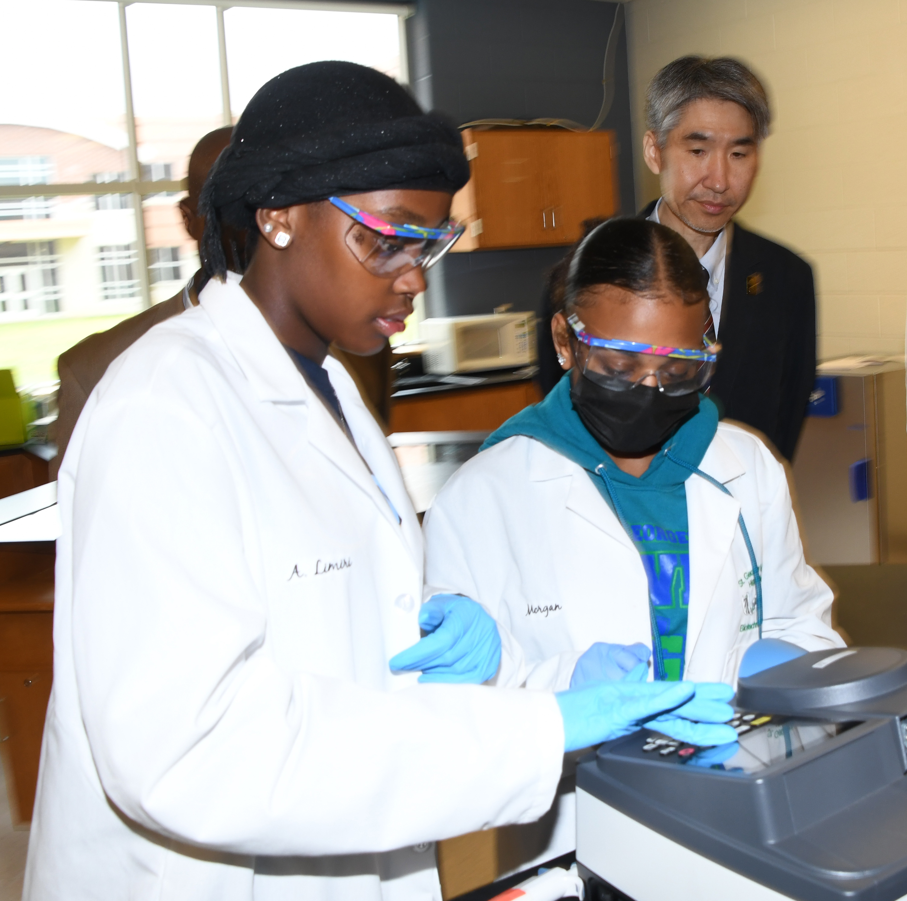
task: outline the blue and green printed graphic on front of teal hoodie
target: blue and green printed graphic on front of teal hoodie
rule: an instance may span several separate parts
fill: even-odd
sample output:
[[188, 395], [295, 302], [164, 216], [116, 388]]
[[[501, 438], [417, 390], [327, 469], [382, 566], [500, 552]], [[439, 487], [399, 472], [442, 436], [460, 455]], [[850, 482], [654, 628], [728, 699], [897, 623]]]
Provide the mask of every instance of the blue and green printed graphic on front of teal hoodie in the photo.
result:
[[633, 524], [633, 544], [649, 579], [649, 603], [655, 612], [664, 677], [683, 679], [689, 607], [689, 535], [652, 523]]

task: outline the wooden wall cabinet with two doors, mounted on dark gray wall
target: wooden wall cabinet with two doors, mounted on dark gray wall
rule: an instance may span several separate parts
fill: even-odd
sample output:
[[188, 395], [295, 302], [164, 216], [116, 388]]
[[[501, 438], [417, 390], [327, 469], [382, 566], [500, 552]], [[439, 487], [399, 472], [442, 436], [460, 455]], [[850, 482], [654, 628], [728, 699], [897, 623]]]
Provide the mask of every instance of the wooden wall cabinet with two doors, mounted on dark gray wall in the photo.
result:
[[614, 132], [465, 129], [472, 177], [453, 198], [467, 228], [452, 252], [571, 244], [619, 211]]

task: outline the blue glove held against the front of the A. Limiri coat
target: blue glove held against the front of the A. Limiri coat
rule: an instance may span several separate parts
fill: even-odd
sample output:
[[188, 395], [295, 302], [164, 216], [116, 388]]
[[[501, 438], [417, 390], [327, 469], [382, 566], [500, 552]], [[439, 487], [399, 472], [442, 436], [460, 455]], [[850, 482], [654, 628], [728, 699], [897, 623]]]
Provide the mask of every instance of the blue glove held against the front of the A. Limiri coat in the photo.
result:
[[501, 662], [501, 636], [481, 604], [435, 594], [422, 605], [423, 639], [391, 658], [392, 670], [422, 671], [420, 682], [488, 681]]

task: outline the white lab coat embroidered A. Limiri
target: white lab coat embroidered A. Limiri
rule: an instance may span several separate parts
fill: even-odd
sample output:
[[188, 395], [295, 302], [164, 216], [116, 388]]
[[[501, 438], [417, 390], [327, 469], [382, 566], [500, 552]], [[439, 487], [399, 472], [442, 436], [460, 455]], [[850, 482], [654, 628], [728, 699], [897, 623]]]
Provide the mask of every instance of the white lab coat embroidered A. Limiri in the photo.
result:
[[394, 454], [238, 281], [112, 364], [63, 461], [26, 901], [439, 901], [420, 843], [551, 805], [550, 693], [388, 671], [423, 591]]

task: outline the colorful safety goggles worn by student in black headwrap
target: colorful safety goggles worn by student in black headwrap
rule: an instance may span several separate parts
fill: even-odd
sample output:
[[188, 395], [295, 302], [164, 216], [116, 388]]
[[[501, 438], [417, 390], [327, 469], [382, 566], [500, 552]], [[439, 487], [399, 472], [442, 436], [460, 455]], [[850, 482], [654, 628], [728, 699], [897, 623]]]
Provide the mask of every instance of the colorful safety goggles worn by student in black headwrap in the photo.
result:
[[329, 197], [339, 211], [354, 220], [346, 232], [346, 246], [373, 275], [396, 279], [410, 269], [429, 269], [453, 247], [465, 230], [451, 220], [443, 229], [396, 225], [359, 210], [339, 197]]

